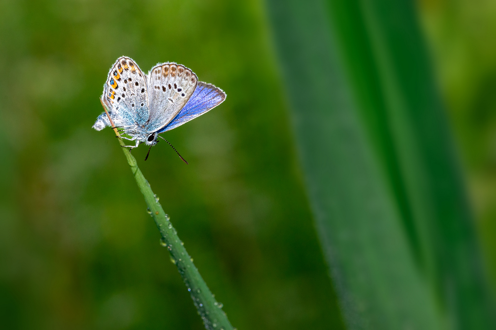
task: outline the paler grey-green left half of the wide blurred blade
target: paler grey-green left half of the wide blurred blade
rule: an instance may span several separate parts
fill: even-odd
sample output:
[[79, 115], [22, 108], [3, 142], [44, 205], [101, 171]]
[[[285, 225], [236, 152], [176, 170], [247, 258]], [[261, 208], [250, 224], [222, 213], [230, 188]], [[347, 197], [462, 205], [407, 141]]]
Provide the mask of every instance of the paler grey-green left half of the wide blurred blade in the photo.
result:
[[269, 1], [322, 248], [349, 329], [439, 329], [342, 70], [326, 7]]

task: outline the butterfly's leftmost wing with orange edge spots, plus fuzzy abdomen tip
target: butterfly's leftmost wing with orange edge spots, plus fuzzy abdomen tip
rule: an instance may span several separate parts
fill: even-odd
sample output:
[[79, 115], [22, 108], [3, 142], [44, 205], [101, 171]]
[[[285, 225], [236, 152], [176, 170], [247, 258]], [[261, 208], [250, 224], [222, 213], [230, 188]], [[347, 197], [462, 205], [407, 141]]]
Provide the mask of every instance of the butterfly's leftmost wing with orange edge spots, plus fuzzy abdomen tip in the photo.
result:
[[[116, 126], [144, 125], [149, 117], [145, 74], [130, 58], [122, 56], [111, 67], [103, 87], [102, 101]], [[107, 115], [97, 118], [93, 128], [110, 126]]]

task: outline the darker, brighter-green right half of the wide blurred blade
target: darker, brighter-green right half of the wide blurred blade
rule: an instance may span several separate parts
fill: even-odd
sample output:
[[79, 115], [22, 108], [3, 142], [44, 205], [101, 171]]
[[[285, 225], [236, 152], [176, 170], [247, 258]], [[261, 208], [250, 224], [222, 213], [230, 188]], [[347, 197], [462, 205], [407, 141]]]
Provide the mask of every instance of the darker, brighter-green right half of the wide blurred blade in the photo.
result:
[[365, 123], [382, 136], [376, 150], [419, 266], [451, 327], [493, 329], [473, 219], [413, 4], [329, 3], [344, 58], [354, 57], [347, 68]]

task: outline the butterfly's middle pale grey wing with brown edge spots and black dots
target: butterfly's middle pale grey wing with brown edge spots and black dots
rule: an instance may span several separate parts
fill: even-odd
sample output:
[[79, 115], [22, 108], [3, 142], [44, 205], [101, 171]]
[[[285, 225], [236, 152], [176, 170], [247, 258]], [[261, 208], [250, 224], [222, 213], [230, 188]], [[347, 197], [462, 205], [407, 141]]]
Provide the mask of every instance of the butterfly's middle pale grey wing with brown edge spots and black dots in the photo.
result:
[[150, 132], [167, 125], [183, 109], [197, 83], [194, 72], [176, 63], [157, 64], [148, 72]]

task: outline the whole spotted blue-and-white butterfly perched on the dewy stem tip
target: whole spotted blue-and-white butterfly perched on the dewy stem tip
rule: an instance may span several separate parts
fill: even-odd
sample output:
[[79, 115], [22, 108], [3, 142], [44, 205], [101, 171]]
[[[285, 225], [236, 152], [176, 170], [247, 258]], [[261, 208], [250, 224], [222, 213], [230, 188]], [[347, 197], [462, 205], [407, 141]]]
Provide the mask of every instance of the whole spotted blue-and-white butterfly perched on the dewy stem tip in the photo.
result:
[[[159, 63], [144, 74], [136, 62], [126, 56], [111, 67], [101, 97], [115, 127], [129, 136], [122, 137], [136, 141], [135, 145], [126, 145], [130, 149], [140, 143], [151, 149], [158, 137], [163, 138], [158, 134], [203, 115], [225, 99], [222, 89], [198, 81], [196, 74], [186, 66]], [[93, 128], [101, 131], [107, 126], [112, 127], [104, 112]]]

